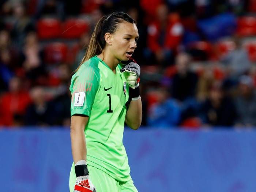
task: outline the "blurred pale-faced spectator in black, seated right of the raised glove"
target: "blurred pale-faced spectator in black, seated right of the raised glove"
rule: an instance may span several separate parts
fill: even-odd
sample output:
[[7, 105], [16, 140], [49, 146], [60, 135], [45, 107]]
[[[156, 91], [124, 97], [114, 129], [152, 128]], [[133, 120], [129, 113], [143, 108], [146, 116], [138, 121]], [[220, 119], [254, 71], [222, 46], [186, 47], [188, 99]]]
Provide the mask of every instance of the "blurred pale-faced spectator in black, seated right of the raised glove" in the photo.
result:
[[178, 101], [194, 98], [196, 93], [197, 75], [189, 69], [190, 56], [179, 53], [175, 65], [177, 73], [172, 79], [171, 95]]

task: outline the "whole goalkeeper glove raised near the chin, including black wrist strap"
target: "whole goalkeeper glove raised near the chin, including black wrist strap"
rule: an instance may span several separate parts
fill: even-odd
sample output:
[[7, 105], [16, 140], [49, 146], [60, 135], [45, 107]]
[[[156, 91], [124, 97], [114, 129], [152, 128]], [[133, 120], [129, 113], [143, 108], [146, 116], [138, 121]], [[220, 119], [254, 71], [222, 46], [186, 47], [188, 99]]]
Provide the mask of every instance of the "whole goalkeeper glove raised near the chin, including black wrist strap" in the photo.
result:
[[124, 74], [129, 86], [129, 100], [136, 101], [140, 99], [140, 66], [132, 58], [123, 64], [124, 67], [120, 69], [120, 72]]

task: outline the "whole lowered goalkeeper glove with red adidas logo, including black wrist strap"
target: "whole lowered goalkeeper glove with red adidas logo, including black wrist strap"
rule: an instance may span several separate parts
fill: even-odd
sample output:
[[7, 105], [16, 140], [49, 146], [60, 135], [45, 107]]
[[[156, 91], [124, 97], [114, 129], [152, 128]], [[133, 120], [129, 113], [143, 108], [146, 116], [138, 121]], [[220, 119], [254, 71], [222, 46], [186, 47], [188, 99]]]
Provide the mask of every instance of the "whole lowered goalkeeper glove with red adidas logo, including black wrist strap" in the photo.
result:
[[86, 161], [80, 160], [75, 164], [76, 184], [74, 192], [97, 192], [89, 178]]

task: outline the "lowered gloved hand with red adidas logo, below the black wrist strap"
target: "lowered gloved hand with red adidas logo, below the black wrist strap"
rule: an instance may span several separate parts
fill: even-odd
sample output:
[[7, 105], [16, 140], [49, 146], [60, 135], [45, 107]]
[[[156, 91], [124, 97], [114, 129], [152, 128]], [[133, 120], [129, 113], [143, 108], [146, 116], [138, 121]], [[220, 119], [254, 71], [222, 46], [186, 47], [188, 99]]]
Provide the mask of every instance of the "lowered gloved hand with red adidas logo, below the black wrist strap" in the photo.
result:
[[89, 175], [76, 177], [74, 192], [97, 192]]

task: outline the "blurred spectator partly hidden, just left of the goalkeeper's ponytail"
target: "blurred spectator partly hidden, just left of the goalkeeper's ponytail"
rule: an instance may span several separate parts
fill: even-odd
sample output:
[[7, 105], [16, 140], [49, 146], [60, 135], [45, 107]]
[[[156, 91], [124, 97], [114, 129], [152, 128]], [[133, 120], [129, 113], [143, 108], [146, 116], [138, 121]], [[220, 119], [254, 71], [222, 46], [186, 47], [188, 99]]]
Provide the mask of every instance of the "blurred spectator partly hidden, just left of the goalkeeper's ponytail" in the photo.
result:
[[75, 59], [74, 64], [72, 65], [72, 71], [75, 71], [75, 69], [77, 69], [79, 64], [81, 63], [81, 61], [82, 61], [82, 59], [83, 59], [83, 57], [86, 53], [89, 41], [90, 41], [89, 33], [84, 33], [80, 37], [79, 44], [78, 44], [79, 45], [79, 51], [78, 51], [78, 53], [76, 53], [76, 59]]

